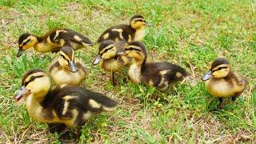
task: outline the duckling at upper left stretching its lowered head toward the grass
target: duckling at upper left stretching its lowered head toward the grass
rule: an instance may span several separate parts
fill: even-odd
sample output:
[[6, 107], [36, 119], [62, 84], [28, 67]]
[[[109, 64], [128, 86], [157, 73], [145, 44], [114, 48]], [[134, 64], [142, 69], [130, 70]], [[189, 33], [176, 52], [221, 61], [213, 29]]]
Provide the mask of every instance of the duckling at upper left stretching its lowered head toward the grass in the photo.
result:
[[62, 46], [71, 46], [78, 50], [84, 46], [92, 46], [93, 43], [86, 36], [70, 29], [54, 29], [42, 37], [25, 33], [18, 38], [18, 54], [20, 57], [23, 51], [34, 47], [39, 53], [58, 52]]

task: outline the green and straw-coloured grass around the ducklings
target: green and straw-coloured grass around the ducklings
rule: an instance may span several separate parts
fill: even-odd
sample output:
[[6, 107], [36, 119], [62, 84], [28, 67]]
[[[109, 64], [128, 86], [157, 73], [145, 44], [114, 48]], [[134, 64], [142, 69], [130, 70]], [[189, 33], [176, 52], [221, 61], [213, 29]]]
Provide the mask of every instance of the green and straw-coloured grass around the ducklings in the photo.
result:
[[[219, 143], [256, 142], [256, 2], [255, 1], [0, 1], [0, 142], [58, 142], [46, 124], [34, 122], [26, 106], [14, 102], [26, 70], [47, 70], [56, 54], [26, 51], [16, 58], [18, 37], [68, 27], [92, 41], [107, 27], [128, 23], [137, 13], [153, 22], [147, 29], [149, 60], [174, 62], [192, 76], [165, 94], [154, 88], [126, 84], [113, 87], [108, 73], [91, 66], [97, 46], [76, 52], [85, 62], [86, 88], [120, 103], [110, 114], [82, 127], [79, 142], [90, 143]], [[211, 112], [218, 100], [200, 80], [214, 58], [225, 56], [233, 69], [250, 79], [250, 87], [223, 110]], [[121, 79], [121, 78], [120, 78]], [[102, 84], [106, 82], [106, 86]]]

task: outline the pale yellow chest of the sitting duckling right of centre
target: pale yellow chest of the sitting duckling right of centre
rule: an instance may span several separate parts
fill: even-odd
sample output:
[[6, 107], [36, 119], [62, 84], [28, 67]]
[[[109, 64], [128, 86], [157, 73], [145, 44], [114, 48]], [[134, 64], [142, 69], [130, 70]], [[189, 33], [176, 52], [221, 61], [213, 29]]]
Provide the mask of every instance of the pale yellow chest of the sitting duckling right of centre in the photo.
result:
[[136, 64], [130, 65], [130, 69], [128, 71], [129, 78], [134, 83], [141, 82], [141, 67]]

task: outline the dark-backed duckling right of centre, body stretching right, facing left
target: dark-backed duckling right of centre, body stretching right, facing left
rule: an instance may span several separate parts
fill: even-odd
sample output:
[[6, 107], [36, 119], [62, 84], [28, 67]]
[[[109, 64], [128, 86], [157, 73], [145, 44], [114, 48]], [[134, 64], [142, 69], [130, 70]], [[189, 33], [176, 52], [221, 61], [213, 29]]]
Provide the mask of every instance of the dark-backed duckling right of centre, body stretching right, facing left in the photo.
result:
[[188, 75], [181, 66], [170, 62], [146, 62], [146, 46], [142, 42], [129, 42], [124, 53], [133, 58], [128, 74], [134, 83], [144, 83], [165, 92], [170, 83], [181, 81]]

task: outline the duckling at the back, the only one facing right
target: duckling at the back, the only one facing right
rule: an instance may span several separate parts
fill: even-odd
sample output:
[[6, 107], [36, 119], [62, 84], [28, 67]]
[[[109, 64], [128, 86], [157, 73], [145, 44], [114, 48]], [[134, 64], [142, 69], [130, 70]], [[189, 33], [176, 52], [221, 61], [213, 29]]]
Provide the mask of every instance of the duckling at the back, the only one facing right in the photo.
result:
[[98, 38], [98, 43], [106, 39], [115, 42], [124, 40], [126, 42], [141, 41], [145, 36], [145, 26], [153, 26], [150, 22], [146, 22], [142, 15], [135, 14], [130, 19], [130, 25], [116, 25], [106, 29]]

